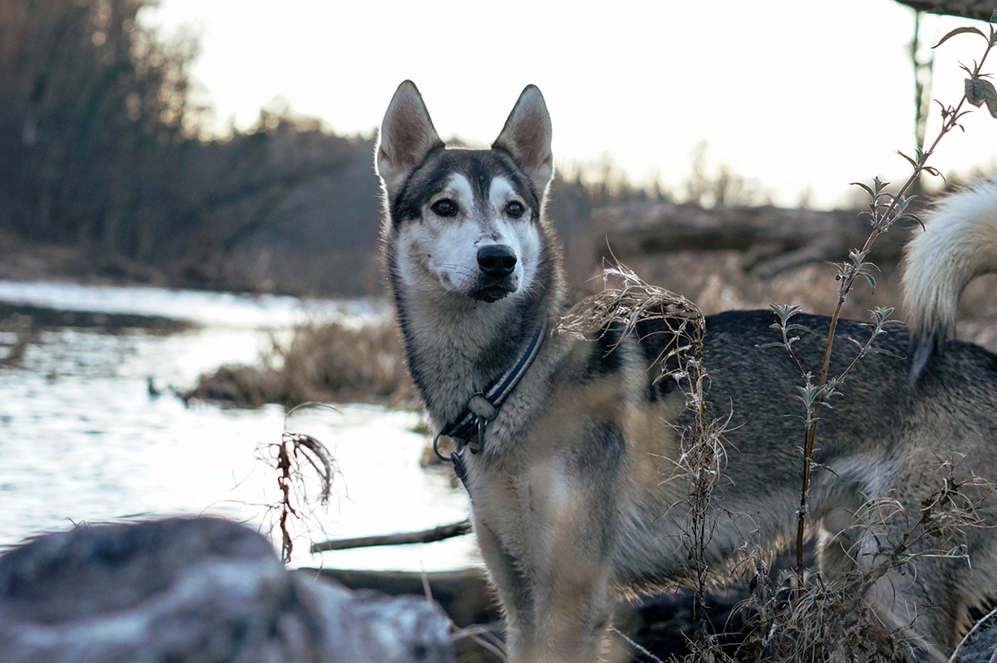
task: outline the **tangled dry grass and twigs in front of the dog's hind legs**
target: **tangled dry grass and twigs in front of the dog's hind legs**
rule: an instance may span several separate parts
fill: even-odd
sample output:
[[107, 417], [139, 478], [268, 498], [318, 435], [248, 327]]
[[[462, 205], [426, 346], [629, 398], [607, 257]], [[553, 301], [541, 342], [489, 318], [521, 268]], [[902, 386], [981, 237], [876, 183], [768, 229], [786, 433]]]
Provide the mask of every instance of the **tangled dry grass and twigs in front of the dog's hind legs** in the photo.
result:
[[[854, 568], [832, 577], [807, 572], [802, 590], [792, 594], [789, 588], [798, 582], [793, 573], [774, 573], [761, 547], [746, 546], [734, 570], [749, 581], [751, 597], [740, 607], [750, 617], [733, 660], [885, 663], [910, 656], [918, 647], [910, 625], [888, 628], [867, 596], [891, 571], [916, 574], [915, 566], [904, 567], [918, 560], [969, 562], [964, 533], [993, 526], [988, 513], [997, 487], [967, 472], [964, 460], [957, 454], [924, 470], [915, 489], [925, 496], [919, 508], [904, 506], [891, 496], [862, 504], [854, 513], [854, 523], [841, 532], [852, 541], [848, 554]], [[716, 654], [699, 651], [699, 656], [687, 660], [716, 660], [705, 653]]]

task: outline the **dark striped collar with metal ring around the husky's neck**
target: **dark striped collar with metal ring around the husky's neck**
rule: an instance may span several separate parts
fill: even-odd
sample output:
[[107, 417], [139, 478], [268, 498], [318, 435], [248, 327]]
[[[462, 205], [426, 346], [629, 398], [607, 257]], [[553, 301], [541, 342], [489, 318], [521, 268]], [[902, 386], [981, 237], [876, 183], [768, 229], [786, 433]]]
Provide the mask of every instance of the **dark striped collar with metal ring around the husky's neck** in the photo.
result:
[[[533, 363], [546, 331], [547, 321], [544, 320], [533, 332], [533, 337], [519, 356], [519, 360], [492, 383], [491, 387], [472, 396], [464, 412], [458, 416], [457, 423], [444, 427], [433, 440], [433, 452], [437, 458], [447, 463], [453, 463], [454, 471], [462, 482], [467, 483], [467, 472], [464, 469], [464, 462], [461, 461], [465, 448], [470, 449], [472, 454], [481, 451], [485, 444], [485, 431], [489, 422], [496, 418], [499, 406], [519, 384], [519, 380], [526, 374], [529, 365]], [[451, 452], [449, 458], [441, 454], [437, 446], [442, 436], [453, 438], [458, 445], [457, 451]]]

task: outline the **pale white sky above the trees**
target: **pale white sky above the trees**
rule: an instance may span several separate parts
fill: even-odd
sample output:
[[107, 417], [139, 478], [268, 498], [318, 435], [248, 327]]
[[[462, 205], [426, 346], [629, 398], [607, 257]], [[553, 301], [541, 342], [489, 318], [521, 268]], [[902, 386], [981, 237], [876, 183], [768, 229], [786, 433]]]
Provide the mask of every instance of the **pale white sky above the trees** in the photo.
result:
[[[913, 11], [893, 0], [162, 0], [145, 21], [200, 35], [193, 75], [219, 127], [250, 126], [281, 96], [339, 133], [370, 134], [408, 78], [442, 137], [485, 145], [534, 83], [557, 162], [608, 153], [635, 180], [680, 190], [705, 140], [711, 164], [777, 203], [810, 188], [825, 206], [849, 181], [905, 177], [895, 151], [913, 146]], [[922, 41], [967, 24], [986, 31], [928, 16]], [[963, 35], [936, 49], [932, 96], [956, 103], [958, 62], [984, 46]], [[997, 53], [988, 63], [997, 73]], [[938, 124], [932, 115], [929, 141]], [[997, 169], [997, 120], [984, 108], [963, 124], [930, 164]]]

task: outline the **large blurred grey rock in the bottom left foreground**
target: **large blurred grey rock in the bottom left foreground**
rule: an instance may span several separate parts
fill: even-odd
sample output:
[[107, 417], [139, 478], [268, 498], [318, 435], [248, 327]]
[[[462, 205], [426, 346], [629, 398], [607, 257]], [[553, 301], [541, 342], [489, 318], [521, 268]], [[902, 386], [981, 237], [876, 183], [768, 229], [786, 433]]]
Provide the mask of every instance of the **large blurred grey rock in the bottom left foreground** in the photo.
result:
[[452, 661], [449, 626], [426, 599], [289, 572], [219, 518], [79, 526], [0, 557], [5, 663]]

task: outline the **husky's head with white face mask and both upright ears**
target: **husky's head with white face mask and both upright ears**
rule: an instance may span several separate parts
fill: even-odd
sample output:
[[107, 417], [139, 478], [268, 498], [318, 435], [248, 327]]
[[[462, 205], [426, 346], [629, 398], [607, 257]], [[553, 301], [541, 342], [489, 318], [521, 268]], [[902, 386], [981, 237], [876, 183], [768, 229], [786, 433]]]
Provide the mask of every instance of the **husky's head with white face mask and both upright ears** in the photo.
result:
[[550, 116], [535, 86], [522, 91], [491, 150], [448, 150], [405, 81], [381, 123], [375, 166], [398, 278], [489, 303], [530, 288], [553, 174]]

